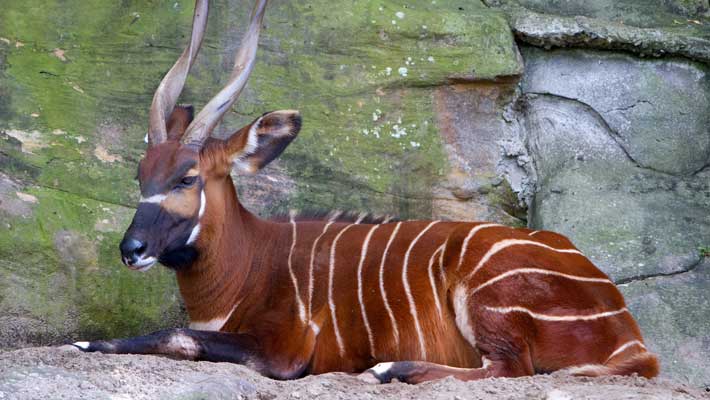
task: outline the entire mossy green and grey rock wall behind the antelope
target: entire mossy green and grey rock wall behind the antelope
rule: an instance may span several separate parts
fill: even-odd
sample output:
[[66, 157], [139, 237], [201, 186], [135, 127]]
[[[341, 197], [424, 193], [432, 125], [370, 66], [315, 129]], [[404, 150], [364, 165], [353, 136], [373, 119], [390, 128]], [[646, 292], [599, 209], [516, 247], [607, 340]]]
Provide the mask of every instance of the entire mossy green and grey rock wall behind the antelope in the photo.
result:
[[[249, 10], [213, 4], [181, 100], [224, 83]], [[664, 373], [710, 385], [707, 0], [272, 1], [217, 135], [299, 108], [245, 205], [492, 220], [568, 235], [627, 296]], [[0, 346], [182, 324], [130, 273], [155, 86], [192, 1], [8, 0], [0, 11]]]

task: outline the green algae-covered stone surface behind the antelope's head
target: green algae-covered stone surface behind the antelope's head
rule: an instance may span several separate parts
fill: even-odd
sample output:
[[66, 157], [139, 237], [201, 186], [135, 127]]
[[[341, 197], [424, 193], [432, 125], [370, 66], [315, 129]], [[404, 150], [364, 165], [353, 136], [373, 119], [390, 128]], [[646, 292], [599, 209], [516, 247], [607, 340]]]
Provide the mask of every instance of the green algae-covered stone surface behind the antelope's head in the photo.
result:
[[[225, 83], [251, 9], [211, 3], [181, 97], [198, 109]], [[129, 273], [117, 244], [137, 201], [152, 94], [186, 44], [193, 4], [3, 2], [0, 318], [24, 333], [0, 330], [0, 345], [182, 322], [171, 274]], [[302, 132], [282, 159], [237, 176], [262, 215], [308, 206], [431, 217], [449, 172], [434, 87], [521, 71], [505, 17], [480, 3], [273, 1], [250, 83], [216, 134], [301, 110]]]

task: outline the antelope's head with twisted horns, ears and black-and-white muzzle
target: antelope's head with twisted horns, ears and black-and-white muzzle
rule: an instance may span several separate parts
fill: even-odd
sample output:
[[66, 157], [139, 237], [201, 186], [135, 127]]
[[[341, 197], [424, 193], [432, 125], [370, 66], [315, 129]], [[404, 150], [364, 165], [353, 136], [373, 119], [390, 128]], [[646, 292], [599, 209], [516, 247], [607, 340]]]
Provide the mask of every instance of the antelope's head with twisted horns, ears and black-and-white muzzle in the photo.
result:
[[[269, 112], [225, 140], [210, 133], [246, 85], [254, 67], [266, 0], [257, 0], [226, 86], [193, 118], [191, 106], [176, 106], [207, 25], [208, 0], [196, 0], [192, 36], [158, 86], [150, 110], [148, 149], [138, 166], [141, 199], [120, 244], [123, 263], [145, 271], [160, 262], [192, 264], [207, 208], [206, 191], [231, 185], [236, 164], [256, 172], [276, 158], [301, 127], [297, 111]], [[232, 188], [233, 190], [233, 188]]]

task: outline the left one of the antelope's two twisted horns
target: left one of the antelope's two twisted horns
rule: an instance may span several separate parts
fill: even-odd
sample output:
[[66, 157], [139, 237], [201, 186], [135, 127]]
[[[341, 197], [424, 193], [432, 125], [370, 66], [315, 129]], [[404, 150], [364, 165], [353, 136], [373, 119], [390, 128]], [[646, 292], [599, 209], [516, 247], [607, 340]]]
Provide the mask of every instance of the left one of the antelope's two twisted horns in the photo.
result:
[[190, 67], [195, 62], [197, 52], [202, 45], [202, 38], [205, 35], [207, 26], [207, 14], [209, 12], [208, 0], [195, 1], [195, 14], [192, 17], [192, 36], [190, 43], [175, 62], [170, 71], [165, 74], [160, 85], [155, 90], [153, 103], [150, 106], [150, 126], [148, 128], [148, 138], [151, 145], [164, 142], [167, 137], [166, 120], [172, 113], [177, 98], [185, 86], [187, 74]]

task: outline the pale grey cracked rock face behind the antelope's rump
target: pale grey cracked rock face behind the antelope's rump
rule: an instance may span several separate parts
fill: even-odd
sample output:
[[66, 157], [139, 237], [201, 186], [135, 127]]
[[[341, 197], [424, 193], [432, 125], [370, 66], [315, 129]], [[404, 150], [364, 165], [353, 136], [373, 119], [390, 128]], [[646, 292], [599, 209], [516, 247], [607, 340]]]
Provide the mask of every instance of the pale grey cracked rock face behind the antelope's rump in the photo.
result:
[[[523, 54], [518, 118], [538, 177], [531, 227], [568, 235], [630, 283], [627, 300], [666, 371], [707, 384], [710, 280], [698, 249], [710, 239], [708, 68], [588, 50]], [[643, 281], [651, 277], [658, 283]]]

